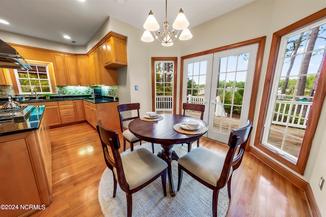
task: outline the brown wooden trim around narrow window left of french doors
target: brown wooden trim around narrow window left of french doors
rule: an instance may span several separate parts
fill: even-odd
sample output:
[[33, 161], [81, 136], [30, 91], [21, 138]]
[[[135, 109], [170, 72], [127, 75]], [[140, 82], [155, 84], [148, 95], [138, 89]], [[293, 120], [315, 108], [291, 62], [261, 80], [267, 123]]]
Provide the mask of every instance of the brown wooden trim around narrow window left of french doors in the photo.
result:
[[152, 111], [155, 111], [155, 61], [171, 61], [174, 64], [173, 73], [173, 114], [176, 114], [177, 104], [177, 57], [152, 57]]

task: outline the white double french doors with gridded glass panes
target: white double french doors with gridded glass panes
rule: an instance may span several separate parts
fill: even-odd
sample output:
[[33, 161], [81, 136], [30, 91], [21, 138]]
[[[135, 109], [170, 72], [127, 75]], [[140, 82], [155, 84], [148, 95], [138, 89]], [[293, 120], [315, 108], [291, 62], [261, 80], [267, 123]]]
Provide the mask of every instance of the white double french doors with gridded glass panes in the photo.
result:
[[246, 125], [257, 50], [252, 44], [184, 61], [182, 101], [205, 104], [208, 138], [227, 143], [232, 129]]

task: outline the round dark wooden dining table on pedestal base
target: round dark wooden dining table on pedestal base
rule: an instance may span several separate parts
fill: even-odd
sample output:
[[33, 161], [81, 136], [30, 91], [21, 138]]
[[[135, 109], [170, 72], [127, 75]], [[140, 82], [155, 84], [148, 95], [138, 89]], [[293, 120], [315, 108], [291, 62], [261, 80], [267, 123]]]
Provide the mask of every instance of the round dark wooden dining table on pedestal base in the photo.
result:
[[[157, 156], [164, 159], [168, 164], [170, 192], [171, 196], [174, 197], [175, 191], [172, 179], [171, 162], [172, 160], [178, 160], [179, 157], [175, 151], [172, 150], [172, 147], [175, 144], [190, 143], [198, 140], [207, 132], [208, 126], [204, 121], [198, 118], [185, 115], [162, 114], [162, 117], [162, 120], [157, 121], [145, 121], [141, 120], [141, 118], [137, 118], [129, 123], [128, 128], [135, 137], [143, 141], [161, 145], [163, 149], [158, 152]], [[173, 126], [175, 124], [189, 120], [200, 122], [200, 125], [204, 130], [199, 134], [186, 134], [174, 130]]]

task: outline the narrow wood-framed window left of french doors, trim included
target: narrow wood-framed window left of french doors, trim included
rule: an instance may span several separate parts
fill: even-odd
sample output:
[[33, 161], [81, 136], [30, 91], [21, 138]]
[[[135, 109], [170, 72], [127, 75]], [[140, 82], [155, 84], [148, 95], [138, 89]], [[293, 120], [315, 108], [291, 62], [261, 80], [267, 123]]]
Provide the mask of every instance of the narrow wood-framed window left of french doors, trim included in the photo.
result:
[[158, 114], [175, 114], [177, 58], [152, 58], [152, 102]]

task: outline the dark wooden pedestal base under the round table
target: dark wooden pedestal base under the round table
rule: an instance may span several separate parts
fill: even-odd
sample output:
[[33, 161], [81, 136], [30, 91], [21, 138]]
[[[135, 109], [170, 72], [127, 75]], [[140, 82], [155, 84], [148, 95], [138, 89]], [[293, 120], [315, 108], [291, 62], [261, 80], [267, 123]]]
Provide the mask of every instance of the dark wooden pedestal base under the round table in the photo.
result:
[[173, 145], [163, 145], [162, 146], [162, 151], [158, 152], [157, 156], [161, 159], [164, 159], [167, 164], [168, 164], [168, 178], [169, 178], [169, 185], [170, 185], [170, 192], [171, 196], [175, 196], [175, 191], [174, 191], [174, 185], [173, 185], [173, 178], [172, 178], [172, 168], [171, 168], [171, 162], [172, 160], [178, 160], [179, 157], [175, 151], [173, 151], [171, 148]]

